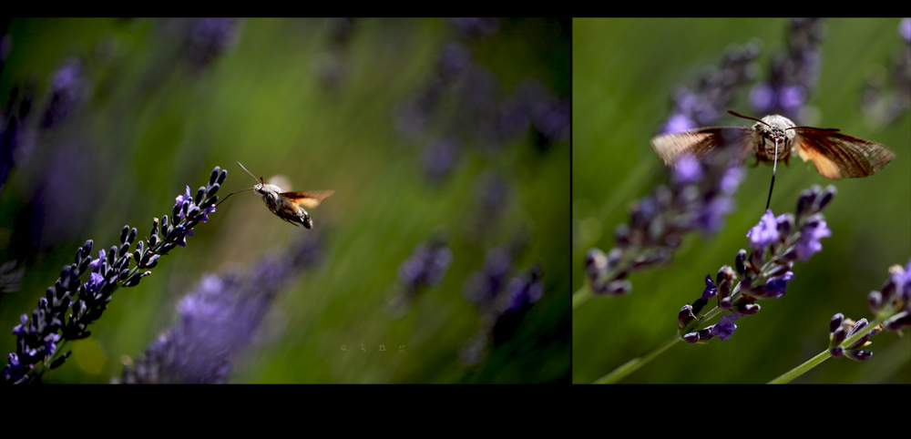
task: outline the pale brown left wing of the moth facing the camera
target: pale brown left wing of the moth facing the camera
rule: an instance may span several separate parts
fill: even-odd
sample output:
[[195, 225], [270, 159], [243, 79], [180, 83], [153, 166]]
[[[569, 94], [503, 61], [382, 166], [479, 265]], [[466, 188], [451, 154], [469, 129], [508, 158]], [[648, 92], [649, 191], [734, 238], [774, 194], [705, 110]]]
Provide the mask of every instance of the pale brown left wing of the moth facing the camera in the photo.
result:
[[722, 147], [734, 148], [734, 156], [742, 163], [752, 152], [751, 131], [746, 127], [695, 128], [656, 136], [651, 139], [651, 146], [670, 167], [685, 154], [702, 160], [711, 151]]

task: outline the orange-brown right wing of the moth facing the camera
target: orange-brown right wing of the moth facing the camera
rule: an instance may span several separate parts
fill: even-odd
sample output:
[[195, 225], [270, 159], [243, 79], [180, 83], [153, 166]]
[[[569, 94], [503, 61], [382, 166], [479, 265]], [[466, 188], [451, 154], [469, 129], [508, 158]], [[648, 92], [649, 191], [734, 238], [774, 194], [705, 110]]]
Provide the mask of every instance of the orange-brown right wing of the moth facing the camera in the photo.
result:
[[826, 179], [858, 179], [885, 167], [895, 153], [884, 146], [832, 129], [796, 128], [794, 148], [804, 161], [812, 160]]

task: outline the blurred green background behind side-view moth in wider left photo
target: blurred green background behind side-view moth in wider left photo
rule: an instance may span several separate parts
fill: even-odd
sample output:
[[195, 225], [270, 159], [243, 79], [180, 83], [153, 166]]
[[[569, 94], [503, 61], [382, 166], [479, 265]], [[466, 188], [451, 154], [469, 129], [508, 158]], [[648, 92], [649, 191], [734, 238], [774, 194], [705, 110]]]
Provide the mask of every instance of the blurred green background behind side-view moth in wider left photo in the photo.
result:
[[[286, 176], [293, 190], [335, 189], [310, 209], [315, 231], [277, 219], [252, 193], [232, 197], [186, 248], [163, 257], [137, 288], [117, 291], [46, 383], [107, 383], [124, 355], [143, 352], [176, 321], [176, 303], [204, 273], [245, 270], [313, 233], [322, 234], [320, 264], [275, 301], [231, 382], [568, 383], [568, 139], [548, 143], [526, 128], [486, 148], [469, 137], [451, 170], [429, 179], [422, 150], [461, 128], [445, 120], [457, 97], [441, 101], [443, 116], [420, 136], [396, 131], [398, 108], [433, 81], [441, 47], [454, 41], [496, 78], [497, 102], [528, 80], [568, 102], [568, 20], [503, 19], [494, 34], [460, 36], [443, 19], [363, 19], [349, 29], [328, 19], [247, 19], [218, 50], [188, 46], [186, 26], [9, 22], [4, 105], [13, 87], [31, 87], [35, 125], [52, 72], [67, 60], [81, 63], [84, 88], [66, 119], [36, 129], [0, 194], [0, 262], [25, 267], [21, 291], [0, 298], [0, 351], [15, 352], [9, 331], [77, 246], [95, 240], [95, 256], [124, 224], [148, 234], [152, 217], [170, 214], [185, 186], [195, 193], [216, 165], [229, 171], [220, 197], [250, 188], [240, 161], [257, 177]], [[491, 175], [507, 183], [496, 215], [478, 189]], [[396, 319], [388, 303], [399, 266], [437, 233], [448, 238], [452, 265]], [[544, 295], [486, 362], [462, 367], [458, 353], [480, 327], [463, 284], [488, 250], [517, 236], [527, 247], [514, 274], [539, 262]]]

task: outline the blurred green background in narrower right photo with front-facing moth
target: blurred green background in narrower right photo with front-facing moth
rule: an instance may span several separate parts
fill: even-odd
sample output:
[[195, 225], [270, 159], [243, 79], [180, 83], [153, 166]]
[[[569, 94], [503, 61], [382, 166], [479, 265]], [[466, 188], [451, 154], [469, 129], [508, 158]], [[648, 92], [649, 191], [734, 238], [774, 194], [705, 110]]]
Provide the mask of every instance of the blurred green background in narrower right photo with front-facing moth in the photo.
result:
[[[613, 230], [629, 220], [626, 208], [667, 177], [650, 146], [669, 116], [671, 92], [693, 87], [704, 66], [718, 66], [724, 50], [753, 38], [762, 43], [759, 79], [770, 51], [786, 47], [786, 19], [574, 19], [573, 20], [573, 291], [583, 286], [586, 250], [613, 246]], [[827, 19], [823, 67], [808, 104], [821, 128], [881, 143], [896, 153], [867, 179], [831, 181], [804, 169], [800, 159], [779, 167], [771, 209], [793, 211], [797, 195], [813, 184], [834, 184], [838, 195], [825, 210], [833, 236], [807, 263], [778, 301], [737, 322], [731, 340], [678, 343], [622, 383], [767, 383], [826, 349], [836, 312], [870, 318], [866, 294], [879, 290], [893, 264], [911, 257], [911, 114], [876, 123], [860, 110], [870, 72], [890, 70], [908, 46], [898, 18]], [[743, 87], [731, 109], [754, 117]], [[722, 108], [723, 110], [723, 108]], [[802, 125], [806, 121], [795, 120]], [[744, 121], [723, 118], [722, 126]], [[749, 125], [749, 124], [746, 124]], [[632, 292], [593, 298], [573, 311], [572, 381], [592, 383], [649, 352], [676, 332], [677, 313], [699, 298], [706, 274], [714, 278], [745, 248], [745, 234], [763, 212], [772, 168], [746, 168], [737, 206], [716, 236], [688, 235], [669, 266], [630, 276]], [[711, 309], [714, 301], [710, 301]], [[796, 383], [911, 383], [911, 340], [877, 335], [867, 362], [830, 359]]]

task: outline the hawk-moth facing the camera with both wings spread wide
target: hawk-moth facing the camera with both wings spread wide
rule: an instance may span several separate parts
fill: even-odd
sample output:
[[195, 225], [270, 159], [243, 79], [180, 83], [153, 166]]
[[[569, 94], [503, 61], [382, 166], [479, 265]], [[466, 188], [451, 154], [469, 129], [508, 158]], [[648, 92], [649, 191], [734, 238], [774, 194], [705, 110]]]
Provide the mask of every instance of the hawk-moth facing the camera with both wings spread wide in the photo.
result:
[[896, 157], [882, 145], [847, 136], [838, 128], [797, 127], [791, 119], [779, 115], [758, 119], [731, 110], [728, 113], [756, 123], [752, 128], [695, 128], [664, 134], [652, 138], [651, 145], [671, 167], [685, 154], [701, 159], [711, 150], [722, 147], [736, 148], [734, 156], [740, 163], [755, 155], [757, 163], [784, 161], [787, 164], [796, 153], [804, 161], [813, 161], [816, 170], [826, 179], [868, 177]]

